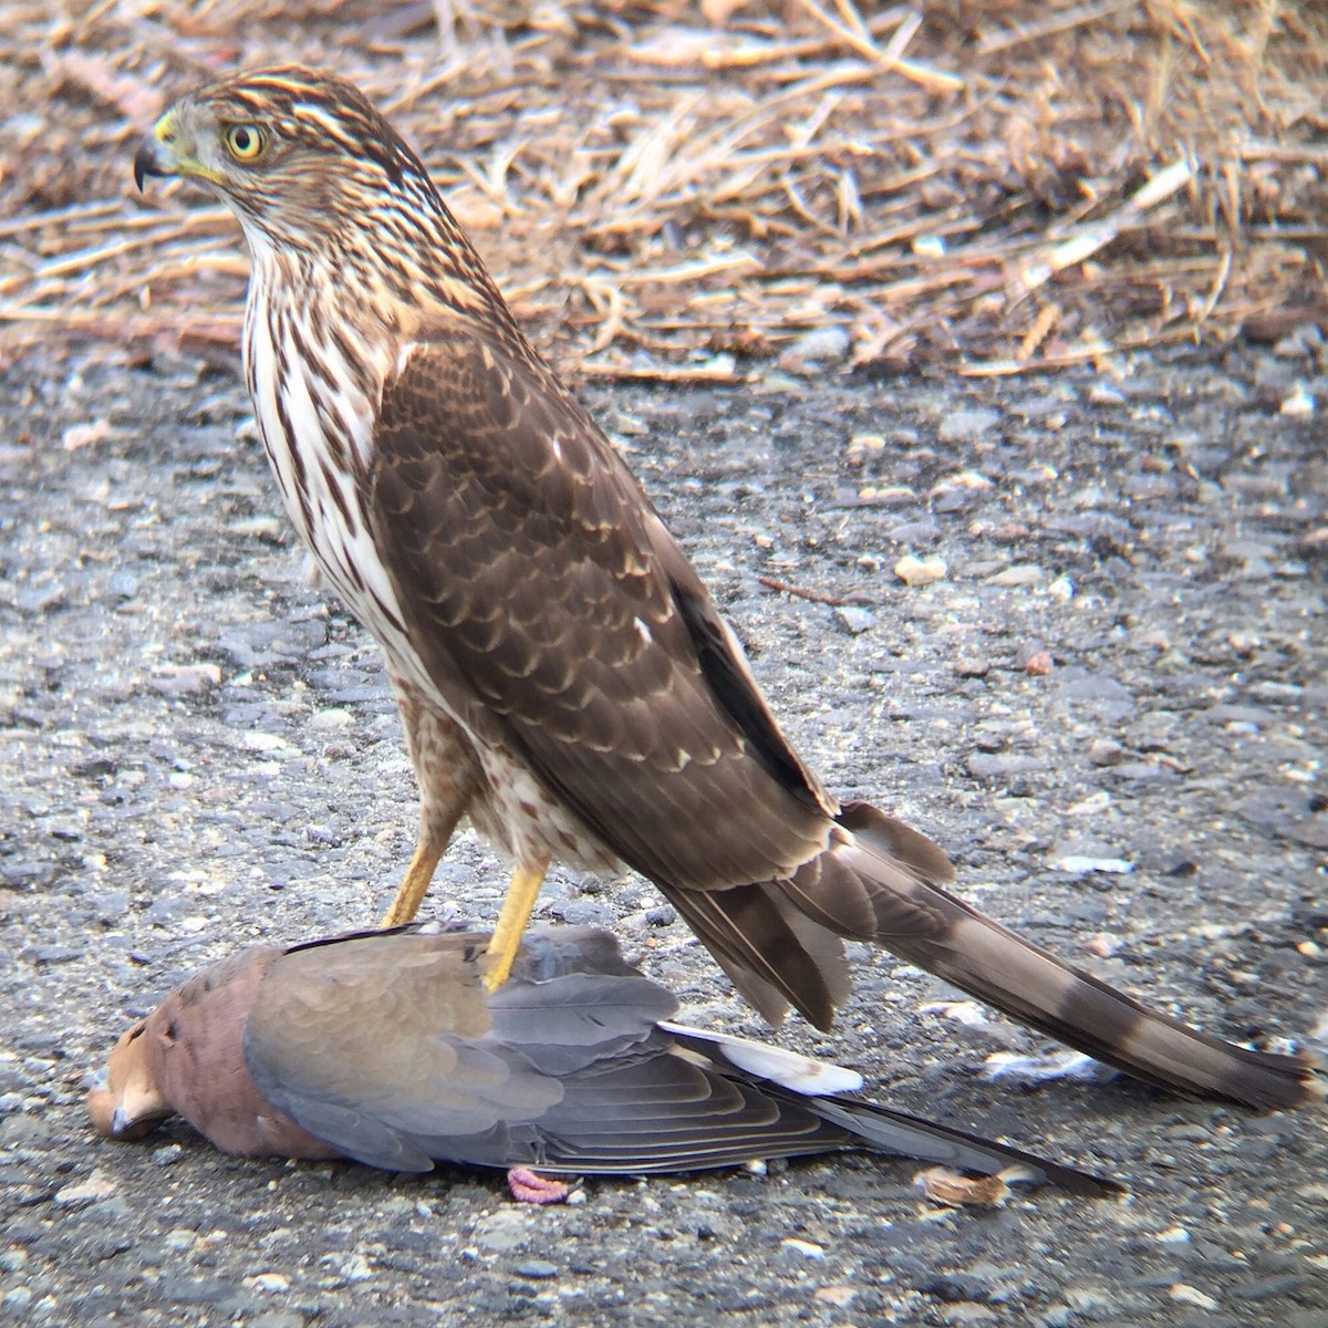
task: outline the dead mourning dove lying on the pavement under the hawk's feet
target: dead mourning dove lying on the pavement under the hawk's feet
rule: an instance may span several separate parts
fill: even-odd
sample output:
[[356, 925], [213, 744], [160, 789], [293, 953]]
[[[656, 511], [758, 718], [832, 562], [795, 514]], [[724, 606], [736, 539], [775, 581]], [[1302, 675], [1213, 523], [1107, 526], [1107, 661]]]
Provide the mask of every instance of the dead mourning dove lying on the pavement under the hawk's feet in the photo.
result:
[[[537, 928], [487, 992], [483, 932], [410, 927], [244, 950], [112, 1052], [88, 1098], [112, 1138], [173, 1113], [244, 1157], [659, 1173], [870, 1149], [1081, 1194], [1118, 1186], [857, 1097], [851, 1070], [665, 1023], [673, 996], [604, 931]], [[542, 1186], [552, 1193], [542, 1193]]]

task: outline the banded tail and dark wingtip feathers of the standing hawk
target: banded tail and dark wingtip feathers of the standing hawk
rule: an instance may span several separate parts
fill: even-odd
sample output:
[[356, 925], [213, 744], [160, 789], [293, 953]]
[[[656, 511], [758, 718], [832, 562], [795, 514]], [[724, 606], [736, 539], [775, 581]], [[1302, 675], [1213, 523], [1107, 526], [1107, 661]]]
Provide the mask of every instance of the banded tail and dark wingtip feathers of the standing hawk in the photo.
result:
[[[1324, 1097], [1311, 1060], [1235, 1046], [1150, 1011], [935, 883], [948, 875], [930, 839], [857, 802], [843, 809], [826, 850], [788, 880], [673, 898], [684, 896], [680, 911], [766, 1017], [778, 1017], [788, 1000], [829, 1028], [843, 985], [834, 938], [843, 936], [883, 946], [1150, 1084], [1255, 1108]], [[814, 934], [818, 946], [807, 943]]]

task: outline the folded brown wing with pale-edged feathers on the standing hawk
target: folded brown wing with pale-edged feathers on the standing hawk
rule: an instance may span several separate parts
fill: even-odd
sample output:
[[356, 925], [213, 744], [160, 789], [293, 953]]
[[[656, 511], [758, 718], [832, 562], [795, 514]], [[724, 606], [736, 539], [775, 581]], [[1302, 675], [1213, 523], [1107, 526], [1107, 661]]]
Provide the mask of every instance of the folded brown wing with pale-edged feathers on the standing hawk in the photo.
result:
[[825, 846], [833, 802], [547, 371], [438, 329], [384, 392], [374, 448], [374, 538], [412, 643], [481, 738], [661, 883], [777, 879]]

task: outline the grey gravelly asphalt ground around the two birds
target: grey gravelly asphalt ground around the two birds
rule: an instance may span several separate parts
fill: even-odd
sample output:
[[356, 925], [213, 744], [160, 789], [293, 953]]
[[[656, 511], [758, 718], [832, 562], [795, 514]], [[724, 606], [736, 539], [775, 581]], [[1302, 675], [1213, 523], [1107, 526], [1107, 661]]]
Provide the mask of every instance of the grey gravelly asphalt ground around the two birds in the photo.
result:
[[[934, 834], [989, 912], [1246, 1038], [1312, 1029], [1328, 991], [1316, 355], [588, 397], [833, 788]], [[497, 1175], [97, 1139], [85, 1076], [126, 1021], [234, 946], [369, 923], [414, 794], [232, 377], [11, 372], [0, 416], [0, 1317], [1328, 1324], [1321, 1113], [995, 1080], [1050, 1049], [883, 955], [835, 1037], [784, 1037], [1130, 1198], [939, 1210], [915, 1166], [854, 1157], [530, 1210]], [[904, 584], [904, 555], [946, 574]], [[433, 898], [491, 919], [501, 884], [467, 837]], [[761, 1035], [640, 880], [556, 876], [542, 912], [615, 926], [691, 1019]]]

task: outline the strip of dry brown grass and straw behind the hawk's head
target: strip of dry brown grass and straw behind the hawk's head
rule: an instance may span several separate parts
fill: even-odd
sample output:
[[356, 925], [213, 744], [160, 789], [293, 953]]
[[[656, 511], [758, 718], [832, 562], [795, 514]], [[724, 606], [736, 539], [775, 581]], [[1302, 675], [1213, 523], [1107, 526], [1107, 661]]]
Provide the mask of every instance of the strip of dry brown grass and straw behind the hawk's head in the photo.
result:
[[177, 93], [336, 68], [580, 373], [1019, 372], [1328, 312], [1328, 7], [1278, 0], [0, 0], [0, 357], [224, 356], [224, 208], [129, 179]]

